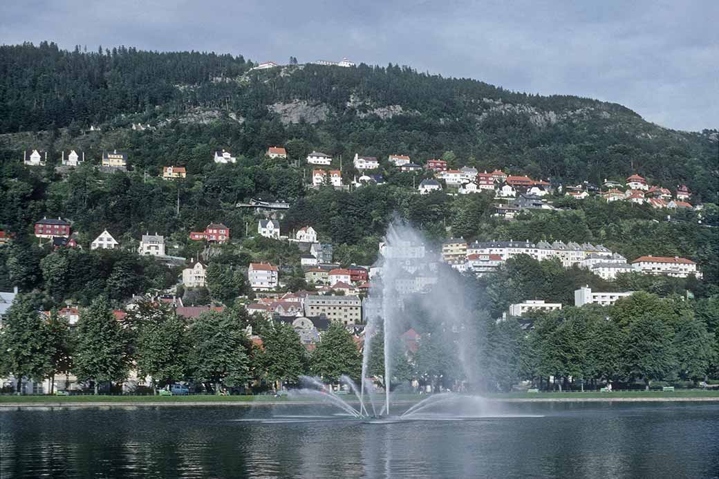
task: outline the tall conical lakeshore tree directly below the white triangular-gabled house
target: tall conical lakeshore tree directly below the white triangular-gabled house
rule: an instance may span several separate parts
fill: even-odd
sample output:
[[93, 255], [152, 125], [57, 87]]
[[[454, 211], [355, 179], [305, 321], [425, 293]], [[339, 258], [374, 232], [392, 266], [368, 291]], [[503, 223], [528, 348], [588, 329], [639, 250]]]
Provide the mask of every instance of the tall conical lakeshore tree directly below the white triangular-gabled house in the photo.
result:
[[93, 381], [95, 394], [99, 383], [127, 378], [130, 362], [127, 333], [104, 297], [96, 298], [81, 311], [76, 344], [73, 372], [78, 380]]

